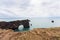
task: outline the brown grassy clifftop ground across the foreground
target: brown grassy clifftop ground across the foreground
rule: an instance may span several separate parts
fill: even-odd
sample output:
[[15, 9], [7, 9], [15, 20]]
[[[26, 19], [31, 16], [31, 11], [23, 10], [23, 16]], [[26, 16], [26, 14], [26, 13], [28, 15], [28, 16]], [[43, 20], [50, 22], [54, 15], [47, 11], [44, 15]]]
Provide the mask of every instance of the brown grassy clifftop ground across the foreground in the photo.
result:
[[0, 40], [60, 40], [60, 28], [37, 28], [25, 32], [0, 29]]

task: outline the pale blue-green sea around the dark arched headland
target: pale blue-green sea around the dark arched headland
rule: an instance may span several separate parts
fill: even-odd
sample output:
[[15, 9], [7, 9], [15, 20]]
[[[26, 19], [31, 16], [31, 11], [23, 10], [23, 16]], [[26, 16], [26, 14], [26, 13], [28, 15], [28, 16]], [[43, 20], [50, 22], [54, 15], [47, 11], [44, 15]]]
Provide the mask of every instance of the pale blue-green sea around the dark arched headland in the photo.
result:
[[[30, 28], [29, 29], [23, 29], [23, 26], [19, 26], [20, 31], [26, 31], [26, 30], [32, 30], [34, 28], [51, 28], [51, 27], [60, 27], [60, 18], [6, 18], [2, 19], [4, 21], [14, 21], [14, 20], [24, 20], [29, 19], [30, 20]], [[51, 21], [54, 20], [54, 23]], [[31, 26], [32, 24], [32, 26]]]

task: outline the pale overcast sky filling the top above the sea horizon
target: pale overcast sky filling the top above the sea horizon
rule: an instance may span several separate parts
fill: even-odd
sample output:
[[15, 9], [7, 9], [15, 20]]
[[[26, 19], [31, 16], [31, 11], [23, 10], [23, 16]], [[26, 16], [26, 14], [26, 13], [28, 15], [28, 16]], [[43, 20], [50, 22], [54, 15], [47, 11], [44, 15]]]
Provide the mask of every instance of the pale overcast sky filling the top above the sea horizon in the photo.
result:
[[0, 0], [0, 18], [60, 17], [60, 0]]

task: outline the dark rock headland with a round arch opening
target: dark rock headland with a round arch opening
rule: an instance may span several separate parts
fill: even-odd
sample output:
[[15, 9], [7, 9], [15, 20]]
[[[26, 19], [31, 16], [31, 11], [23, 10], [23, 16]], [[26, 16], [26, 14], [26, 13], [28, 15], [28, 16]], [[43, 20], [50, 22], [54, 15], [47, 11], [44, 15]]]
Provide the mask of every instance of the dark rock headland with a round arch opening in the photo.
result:
[[0, 22], [0, 28], [1, 29], [18, 29], [18, 27], [20, 25], [23, 25], [24, 28], [29, 28], [29, 22], [30, 20], [26, 19], [26, 20], [17, 20], [17, 21], [10, 21], [10, 22], [5, 22], [5, 21], [1, 21]]

